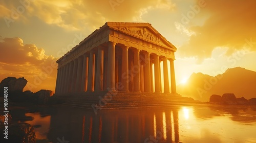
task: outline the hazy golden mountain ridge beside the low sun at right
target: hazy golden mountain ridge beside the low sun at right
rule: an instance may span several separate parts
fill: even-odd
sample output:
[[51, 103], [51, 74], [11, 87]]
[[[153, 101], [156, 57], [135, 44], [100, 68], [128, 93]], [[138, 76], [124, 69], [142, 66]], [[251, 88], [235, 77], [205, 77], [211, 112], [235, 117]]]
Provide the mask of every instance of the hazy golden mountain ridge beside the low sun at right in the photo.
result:
[[200, 101], [209, 101], [211, 94], [224, 93], [234, 93], [237, 98], [256, 98], [256, 72], [235, 67], [215, 77], [193, 73], [186, 84], [177, 86], [177, 91]]

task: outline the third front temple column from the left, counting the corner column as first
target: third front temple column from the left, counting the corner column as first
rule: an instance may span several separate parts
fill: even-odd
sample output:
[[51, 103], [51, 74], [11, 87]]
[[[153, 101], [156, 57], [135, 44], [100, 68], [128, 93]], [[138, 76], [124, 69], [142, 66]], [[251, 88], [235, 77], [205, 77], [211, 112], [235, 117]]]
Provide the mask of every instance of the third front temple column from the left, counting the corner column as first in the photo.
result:
[[140, 51], [134, 50], [134, 91], [140, 92]]

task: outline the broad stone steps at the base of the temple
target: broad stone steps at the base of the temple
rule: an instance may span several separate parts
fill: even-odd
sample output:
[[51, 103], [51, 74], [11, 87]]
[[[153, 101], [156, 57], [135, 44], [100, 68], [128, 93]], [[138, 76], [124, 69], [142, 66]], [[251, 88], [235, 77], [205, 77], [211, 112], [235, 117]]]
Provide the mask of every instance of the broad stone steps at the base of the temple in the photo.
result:
[[[101, 109], [125, 109], [125, 108], [150, 108], [150, 107], [167, 107], [167, 106], [189, 106], [189, 105], [205, 105], [200, 101], [195, 101], [192, 98], [181, 96], [169, 96], [169, 95], [156, 95], [149, 94], [144, 96], [143, 94], [127, 94], [122, 93], [112, 96], [110, 100], [103, 103], [104, 96], [65, 96], [58, 97], [62, 100], [66, 100], [64, 105], [69, 107], [92, 109], [92, 105], [96, 105]], [[102, 106], [100, 106], [102, 105]]]

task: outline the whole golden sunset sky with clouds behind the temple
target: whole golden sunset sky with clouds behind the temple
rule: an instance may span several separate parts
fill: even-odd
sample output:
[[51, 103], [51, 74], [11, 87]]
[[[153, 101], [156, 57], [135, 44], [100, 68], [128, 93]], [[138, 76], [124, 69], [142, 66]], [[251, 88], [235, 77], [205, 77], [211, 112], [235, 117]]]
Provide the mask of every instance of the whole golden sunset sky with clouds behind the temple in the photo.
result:
[[[55, 61], [107, 21], [148, 22], [177, 47], [176, 83], [241, 66], [256, 71], [254, 0], [0, 1], [0, 81], [55, 90]], [[242, 74], [242, 73], [241, 73]]]

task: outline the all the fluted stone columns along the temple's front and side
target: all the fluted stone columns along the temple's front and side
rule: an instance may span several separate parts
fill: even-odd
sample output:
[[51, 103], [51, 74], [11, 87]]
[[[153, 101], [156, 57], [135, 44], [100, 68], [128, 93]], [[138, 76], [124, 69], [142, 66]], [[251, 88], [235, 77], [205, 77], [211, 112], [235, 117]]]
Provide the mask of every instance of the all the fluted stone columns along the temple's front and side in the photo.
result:
[[[74, 59], [68, 64], [58, 68], [56, 93], [80, 92], [80, 91], [102, 91], [116, 90], [116, 81], [122, 83], [120, 91], [129, 92], [129, 72], [133, 71], [133, 89], [135, 92], [153, 92], [153, 76], [155, 77], [155, 93], [161, 93], [161, 72], [159, 55], [154, 55], [153, 63], [148, 52], [143, 52], [144, 59], [141, 65], [140, 50], [133, 49], [133, 59], [129, 61], [129, 46], [122, 46], [121, 58], [121, 80], [118, 79], [118, 61], [116, 61], [116, 43], [109, 42], [108, 50], [98, 46], [97, 51], [90, 51]], [[106, 53], [105, 53], [106, 52]], [[96, 57], [97, 53], [97, 57]], [[107, 56], [105, 58], [104, 56]], [[169, 77], [167, 61], [170, 61], [172, 93], [176, 93], [176, 81], [174, 72], [174, 60], [163, 58], [164, 93], [169, 91]], [[133, 62], [132, 66], [129, 62]], [[129, 70], [130, 68], [134, 68]], [[144, 68], [143, 68], [144, 67]], [[106, 68], [106, 69], [105, 69]], [[135, 71], [136, 69], [136, 71]], [[142, 71], [143, 70], [143, 71]], [[142, 85], [141, 85], [142, 84]]]

